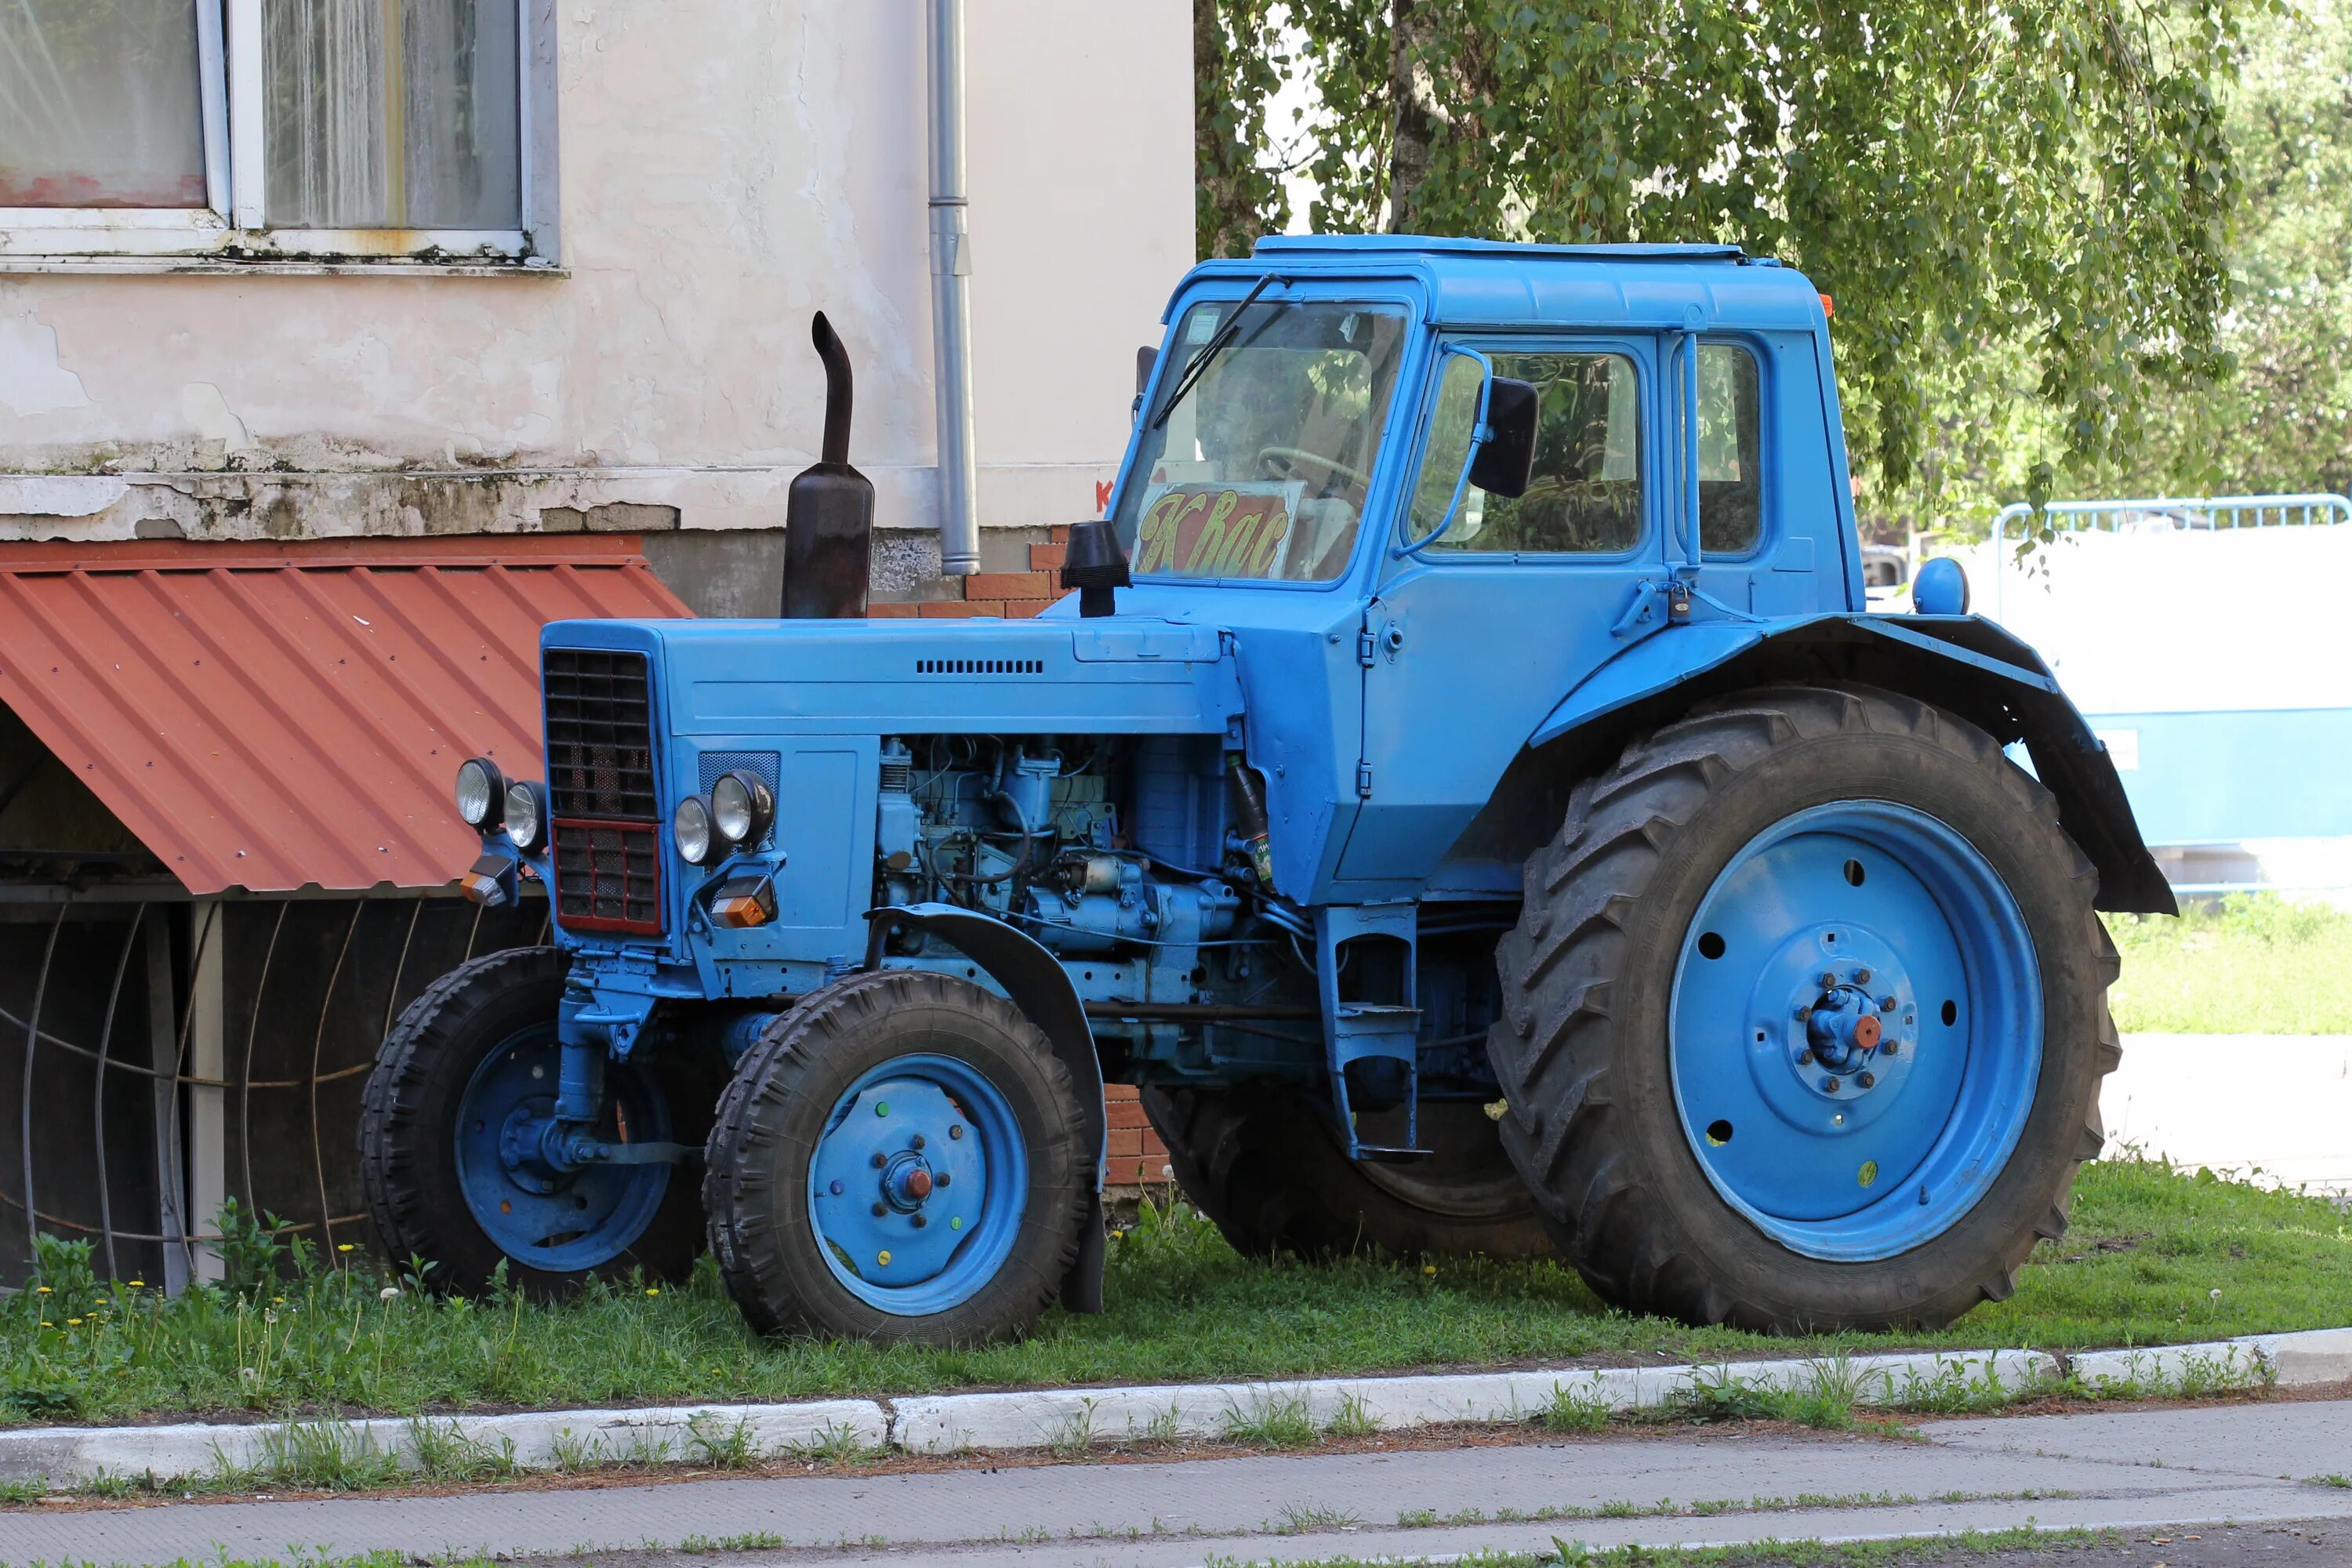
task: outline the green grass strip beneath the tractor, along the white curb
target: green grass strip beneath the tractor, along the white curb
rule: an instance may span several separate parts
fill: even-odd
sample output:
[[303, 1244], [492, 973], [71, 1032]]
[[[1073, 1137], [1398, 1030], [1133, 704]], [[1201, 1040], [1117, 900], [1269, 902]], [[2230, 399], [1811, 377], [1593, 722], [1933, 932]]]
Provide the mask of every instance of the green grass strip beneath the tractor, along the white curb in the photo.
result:
[[[1190, 1211], [1148, 1211], [1112, 1244], [1101, 1316], [1051, 1312], [985, 1349], [760, 1340], [703, 1269], [684, 1286], [616, 1284], [562, 1305], [440, 1300], [365, 1255], [308, 1260], [245, 1293], [101, 1286], [87, 1246], [42, 1241], [49, 1291], [0, 1302], [0, 1422], [151, 1413], [442, 1413], [482, 1406], [816, 1399], [957, 1387], [1091, 1385], [1432, 1366], [1839, 1356], [1900, 1347], [2159, 1345], [2340, 1326], [2352, 1218], [2326, 1201], [2157, 1164], [2084, 1168], [2074, 1229], [2044, 1244], [2006, 1302], [1940, 1335], [1771, 1340], [1604, 1309], [1573, 1272], [1465, 1260], [1397, 1267], [1251, 1262]], [[388, 1295], [386, 1295], [388, 1293]], [[1590, 1413], [1550, 1413], [1581, 1427]], [[1284, 1410], [1235, 1410], [1263, 1441]], [[1263, 1427], [1263, 1432], [1261, 1432]], [[699, 1462], [734, 1458], [713, 1429]], [[287, 1455], [289, 1467], [334, 1455]], [[680, 1458], [680, 1455], [673, 1455]], [[499, 1455], [452, 1453], [494, 1472]]]

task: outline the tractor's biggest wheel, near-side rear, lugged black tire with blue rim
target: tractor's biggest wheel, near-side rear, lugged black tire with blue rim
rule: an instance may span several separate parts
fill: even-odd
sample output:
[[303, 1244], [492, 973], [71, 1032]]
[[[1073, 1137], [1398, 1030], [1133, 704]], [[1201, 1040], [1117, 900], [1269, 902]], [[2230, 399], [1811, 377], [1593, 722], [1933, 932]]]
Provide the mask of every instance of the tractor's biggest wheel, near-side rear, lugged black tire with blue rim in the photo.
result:
[[1778, 1333], [2006, 1298], [2100, 1147], [2098, 879], [1980, 729], [1703, 708], [1581, 783], [1503, 940], [1503, 1145], [1616, 1307]]

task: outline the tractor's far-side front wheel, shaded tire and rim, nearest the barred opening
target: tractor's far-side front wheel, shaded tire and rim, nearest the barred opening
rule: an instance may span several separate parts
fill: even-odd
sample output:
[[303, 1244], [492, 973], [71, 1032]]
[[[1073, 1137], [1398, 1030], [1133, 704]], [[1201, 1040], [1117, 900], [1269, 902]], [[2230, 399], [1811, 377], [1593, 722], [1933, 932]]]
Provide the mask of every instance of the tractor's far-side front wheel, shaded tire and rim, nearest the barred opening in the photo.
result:
[[[503, 1157], [513, 1119], [546, 1114], [560, 1046], [564, 954], [513, 947], [426, 987], [383, 1037], [360, 1110], [360, 1185], [386, 1258], [423, 1258], [426, 1284], [480, 1295], [499, 1265], [532, 1295], [644, 1269], [682, 1279], [701, 1251], [694, 1175], [666, 1164], [548, 1173]], [[600, 1133], [699, 1143], [720, 1074], [684, 1056], [614, 1063]]]

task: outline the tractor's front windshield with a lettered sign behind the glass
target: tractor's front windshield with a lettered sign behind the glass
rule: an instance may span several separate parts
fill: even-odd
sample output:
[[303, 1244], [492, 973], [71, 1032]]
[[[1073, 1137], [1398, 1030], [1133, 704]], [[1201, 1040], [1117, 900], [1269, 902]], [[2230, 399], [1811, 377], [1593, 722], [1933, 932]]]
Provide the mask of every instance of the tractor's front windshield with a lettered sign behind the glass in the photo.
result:
[[[1235, 313], [1240, 320], [1228, 320]], [[1200, 303], [1176, 327], [1176, 353], [1183, 357], [1160, 376], [1115, 517], [1134, 574], [1338, 576], [1355, 550], [1397, 386], [1404, 310]], [[1185, 371], [1195, 371], [1192, 386], [1171, 402]]]

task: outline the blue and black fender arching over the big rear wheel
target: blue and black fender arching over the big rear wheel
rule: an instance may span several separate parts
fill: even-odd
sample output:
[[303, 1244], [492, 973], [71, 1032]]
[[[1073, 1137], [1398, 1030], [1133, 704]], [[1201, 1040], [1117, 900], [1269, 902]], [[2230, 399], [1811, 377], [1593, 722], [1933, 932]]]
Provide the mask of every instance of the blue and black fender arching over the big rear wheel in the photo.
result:
[[1588, 675], [1529, 748], [1628, 715], [1764, 679], [1851, 679], [1947, 708], [2002, 745], [2025, 745], [2058, 823], [2098, 867], [2098, 907], [2173, 914], [2107, 748], [2042, 656], [1983, 616], [1828, 614], [1665, 628]]

